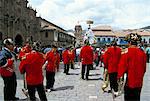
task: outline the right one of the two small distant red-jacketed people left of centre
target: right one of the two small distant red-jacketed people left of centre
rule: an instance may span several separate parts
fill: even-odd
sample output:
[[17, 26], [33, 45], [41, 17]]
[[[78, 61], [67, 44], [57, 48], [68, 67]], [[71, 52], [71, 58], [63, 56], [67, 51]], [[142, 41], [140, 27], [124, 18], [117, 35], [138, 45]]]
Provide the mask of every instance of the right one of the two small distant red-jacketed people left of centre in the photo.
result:
[[71, 69], [74, 69], [75, 53], [72, 47], [69, 49], [68, 55], [69, 55], [69, 65], [71, 65]]

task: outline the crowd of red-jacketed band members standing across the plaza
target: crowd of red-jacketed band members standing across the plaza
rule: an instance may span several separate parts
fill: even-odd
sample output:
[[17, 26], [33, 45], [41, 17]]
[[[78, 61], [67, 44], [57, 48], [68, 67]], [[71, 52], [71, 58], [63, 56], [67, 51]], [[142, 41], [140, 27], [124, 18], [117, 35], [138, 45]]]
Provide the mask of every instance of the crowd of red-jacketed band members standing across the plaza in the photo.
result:
[[[82, 64], [81, 79], [89, 80], [89, 72], [94, 68], [93, 63], [95, 63], [97, 67], [104, 67], [104, 79], [106, 77], [109, 79], [110, 91], [115, 97], [119, 95], [118, 81], [126, 79], [124, 100], [140, 101], [146, 62], [149, 62], [150, 48], [139, 47], [141, 36], [136, 33], [127, 35], [125, 40], [128, 41], [126, 48], [118, 46], [114, 40], [111, 45], [106, 45], [105, 49], [101, 48], [100, 50], [94, 49], [89, 41], [85, 40], [84, 46], [81, 47], [80, 54], [78, 54], [79, 61]], [[4, 81], [5, 101], [19, 99], [16, 97], [17, 81], [14, 69], [16, 68], [14, 67], [16, 59], [20, 60], [18, 68], [25, 77], [24, 85], [26, 85], [25, 88], [32, 101], [36, 100], [36, 90], [40, 100], [47, 101], [45, 91], [54, 90], [55, 73], [59, 71], [61, 58], [66, 75], [70, 74], [70, 68], [75, 68], [76, 49], [73, 46], [65, 47], [62, 54], [59, 54], [57, 46], [52, 45], [51, 50], [42, 53], [38, 42], [34, 42], [33, 45], [26, 43], [16, 55], [12, 39], [5, 39], [3, 45], [4, 47], [0, 52], [0, 74]], [[46, 71], [46, 89], [43, 85], [43, 70]], [[126, 78], [123, 78], [124, 75], [127, 75]], [[102, 87], [102, 89], [104, 90], [106, 87]]]

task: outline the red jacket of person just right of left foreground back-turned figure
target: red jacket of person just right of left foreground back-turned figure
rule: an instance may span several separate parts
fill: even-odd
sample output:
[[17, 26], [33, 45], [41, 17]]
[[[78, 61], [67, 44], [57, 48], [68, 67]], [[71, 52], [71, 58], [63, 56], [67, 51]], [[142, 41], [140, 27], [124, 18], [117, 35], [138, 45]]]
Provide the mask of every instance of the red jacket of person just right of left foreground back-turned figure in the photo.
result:
[[48, 64], [46, 65], [46, 70], [49, 72], [56, 72], [57, 70], [57, 63], [59, 61], [58, 53], [54, 53], [53, 50], [46, 53], [46, 59], [45, 61], [48, 61]]

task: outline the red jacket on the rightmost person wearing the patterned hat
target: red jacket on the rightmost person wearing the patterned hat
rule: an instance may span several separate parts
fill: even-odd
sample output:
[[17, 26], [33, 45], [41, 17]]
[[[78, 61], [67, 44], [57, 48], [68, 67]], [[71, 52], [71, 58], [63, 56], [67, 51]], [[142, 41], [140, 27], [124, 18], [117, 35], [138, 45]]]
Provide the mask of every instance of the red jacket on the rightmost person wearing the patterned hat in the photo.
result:
[[146, 54], [137, 47], [128, 48], [127, 52], [122, 55], [119, 68], [118, 78], [127, 73], [127, 85], [130, 88], [142, 87], [143, 77], [146, 71]]

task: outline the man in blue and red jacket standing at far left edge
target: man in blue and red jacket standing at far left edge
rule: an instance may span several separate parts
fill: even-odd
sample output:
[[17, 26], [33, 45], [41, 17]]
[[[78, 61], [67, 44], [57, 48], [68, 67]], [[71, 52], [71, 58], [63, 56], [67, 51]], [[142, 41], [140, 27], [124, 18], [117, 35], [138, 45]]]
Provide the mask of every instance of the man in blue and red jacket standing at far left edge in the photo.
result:
[[7, 38], [3, 41], [4, 47], [0, 52], [0, 74], [4, 80], [4, 100], [18, 100], [15, 97], [17, 81], [15, 74], [15, 54], [12, 39]]

